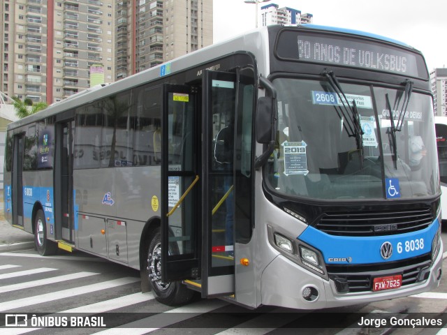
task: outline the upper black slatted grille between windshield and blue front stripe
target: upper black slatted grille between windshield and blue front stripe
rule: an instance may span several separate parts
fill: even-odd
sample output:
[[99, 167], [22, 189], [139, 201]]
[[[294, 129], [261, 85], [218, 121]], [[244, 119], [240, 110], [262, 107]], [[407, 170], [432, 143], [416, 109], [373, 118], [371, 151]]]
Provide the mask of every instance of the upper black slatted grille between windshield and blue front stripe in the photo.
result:
[[315, 228], [339, 236], [403, 234], [427, 228], [434, 221], [430, 208], [393, 211], [325, 213]]

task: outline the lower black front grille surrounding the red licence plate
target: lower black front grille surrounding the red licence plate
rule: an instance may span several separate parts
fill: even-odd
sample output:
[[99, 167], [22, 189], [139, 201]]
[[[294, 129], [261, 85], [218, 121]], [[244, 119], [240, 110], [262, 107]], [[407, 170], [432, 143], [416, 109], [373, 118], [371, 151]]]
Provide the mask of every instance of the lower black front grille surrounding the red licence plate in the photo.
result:
[[376, 277], [402, 274], [402, 286], [425, 281], [430, 274], [432, 261], [430, 254], [411, 260], [389, 262], [376, 265], [330, 265], [327, 266], [329, 278], [335, 282], [337, 292], [372, 291]]

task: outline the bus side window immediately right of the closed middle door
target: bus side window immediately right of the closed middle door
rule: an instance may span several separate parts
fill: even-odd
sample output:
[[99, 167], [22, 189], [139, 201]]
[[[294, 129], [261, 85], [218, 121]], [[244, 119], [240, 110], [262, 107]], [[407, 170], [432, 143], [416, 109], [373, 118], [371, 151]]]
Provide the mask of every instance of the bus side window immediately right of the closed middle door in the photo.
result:
[[102, 126], [103, 108], [101, 102], [96, 101], [76, 109], [73, 168], [99, 168]]

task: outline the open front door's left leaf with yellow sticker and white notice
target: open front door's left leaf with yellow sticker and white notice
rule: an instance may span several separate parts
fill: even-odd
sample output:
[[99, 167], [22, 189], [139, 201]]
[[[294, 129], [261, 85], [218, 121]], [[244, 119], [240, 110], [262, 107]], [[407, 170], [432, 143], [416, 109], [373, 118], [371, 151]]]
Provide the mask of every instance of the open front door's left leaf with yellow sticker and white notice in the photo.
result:
[[191, 87], [163, 87], [161, 122], [162, 280], [199, 276], [200, 130]]

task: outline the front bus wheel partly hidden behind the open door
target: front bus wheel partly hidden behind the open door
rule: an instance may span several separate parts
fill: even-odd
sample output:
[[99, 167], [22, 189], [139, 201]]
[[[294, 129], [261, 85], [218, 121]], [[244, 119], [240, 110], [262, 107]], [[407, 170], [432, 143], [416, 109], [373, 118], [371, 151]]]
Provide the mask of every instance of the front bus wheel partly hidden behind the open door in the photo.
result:
[[178, 306], [189, 302], [194, 292], [179, 281], [163, 283], [161, 281], [161, 232], [156, 228], [152, 232], [147, 251], [147, 276], [154, 297], [161, 304]]

